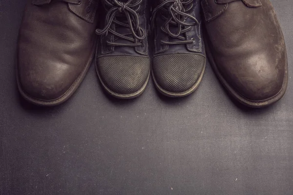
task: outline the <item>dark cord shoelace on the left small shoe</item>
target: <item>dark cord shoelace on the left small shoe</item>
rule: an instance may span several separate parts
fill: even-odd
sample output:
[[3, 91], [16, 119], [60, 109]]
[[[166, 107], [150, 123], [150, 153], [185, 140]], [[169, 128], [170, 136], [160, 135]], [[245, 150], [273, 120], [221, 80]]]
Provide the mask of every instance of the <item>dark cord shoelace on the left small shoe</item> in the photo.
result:
[[[137, 47], [143, 45], [141, 40], [146, 38], [146, 31], [139, 26], [139, 17], [137, 14], [142, 0], [136, 0], [136, 2], [133, 1], [135, 0], [128, 0], [124, 3], [118, 0], [105, 0], [105, 5], [109, 7], [105, 18], [106, 25], [104, 29], [97, 29], [96, 34], [104, 34], [107, 36], [108, 33], [111, 33], [115, 35], [117, 38], [114, 39], [113, 42], [109, 40], [106, 41], [108, 45], [120, 47]], [[126, 17], [127, 23], [118, 20], [123, 17]], [[117, 33], [115, 30], [110, 28], [112, 23], [129, 28], [131, 33]], [[119, 38], [129, 40], [132, 43], [115, 42]]]

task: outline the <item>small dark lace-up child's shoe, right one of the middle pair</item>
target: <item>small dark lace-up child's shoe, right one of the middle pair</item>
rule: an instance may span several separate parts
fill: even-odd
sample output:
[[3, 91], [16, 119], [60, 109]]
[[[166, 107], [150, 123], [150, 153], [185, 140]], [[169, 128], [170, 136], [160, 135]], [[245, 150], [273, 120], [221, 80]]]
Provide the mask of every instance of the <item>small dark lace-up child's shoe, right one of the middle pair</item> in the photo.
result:
[[158, 90], [166, 96], [187, 96], [202, 80], [206, 53], [200, 9], [200, 0], [152, 3], [152, 76]]

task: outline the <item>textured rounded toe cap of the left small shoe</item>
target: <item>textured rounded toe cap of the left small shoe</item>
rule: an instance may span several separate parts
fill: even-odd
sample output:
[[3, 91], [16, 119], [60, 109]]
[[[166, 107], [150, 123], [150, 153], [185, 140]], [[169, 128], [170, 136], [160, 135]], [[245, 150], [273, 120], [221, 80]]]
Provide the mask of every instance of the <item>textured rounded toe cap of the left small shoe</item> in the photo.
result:
[[100, 57], [97, 59], [97, 71], [106, 90], [116, 95], [131, 95], [145, 86], [150, 59], [141, 56]]

